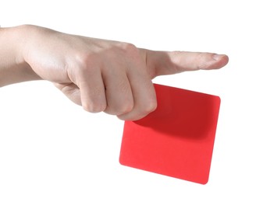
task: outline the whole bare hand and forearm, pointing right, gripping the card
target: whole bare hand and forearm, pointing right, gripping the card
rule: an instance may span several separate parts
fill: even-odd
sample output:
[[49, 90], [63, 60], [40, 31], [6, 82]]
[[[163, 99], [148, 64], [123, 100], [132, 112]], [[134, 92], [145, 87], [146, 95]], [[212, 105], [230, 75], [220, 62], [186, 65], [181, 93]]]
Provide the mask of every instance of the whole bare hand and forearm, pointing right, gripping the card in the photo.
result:
[[152, 78], [225, 66], [225, 54], [151, 51], [40, 26], [0, 29], [0, 87], [44, 79], [91, 113], [138, 120], [157, 107]]

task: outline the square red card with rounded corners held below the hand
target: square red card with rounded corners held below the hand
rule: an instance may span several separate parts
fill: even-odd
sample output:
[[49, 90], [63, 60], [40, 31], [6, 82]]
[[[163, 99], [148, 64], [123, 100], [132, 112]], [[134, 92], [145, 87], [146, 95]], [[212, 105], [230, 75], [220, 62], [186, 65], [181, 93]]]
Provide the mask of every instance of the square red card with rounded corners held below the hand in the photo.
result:
[[119, 162], [205, 184], [219, 116], [219, 96], [156, 85], [158, 107], [125, 121]]

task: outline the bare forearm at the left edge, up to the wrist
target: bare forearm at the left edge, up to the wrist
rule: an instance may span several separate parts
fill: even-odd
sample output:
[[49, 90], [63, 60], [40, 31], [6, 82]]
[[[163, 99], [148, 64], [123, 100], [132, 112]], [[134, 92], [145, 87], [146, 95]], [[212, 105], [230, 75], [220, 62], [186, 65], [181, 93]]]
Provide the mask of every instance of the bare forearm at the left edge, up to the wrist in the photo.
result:
[[27, 26], [0, 28], [0, 87], [40, 79], [23, 59], [26, 40]]

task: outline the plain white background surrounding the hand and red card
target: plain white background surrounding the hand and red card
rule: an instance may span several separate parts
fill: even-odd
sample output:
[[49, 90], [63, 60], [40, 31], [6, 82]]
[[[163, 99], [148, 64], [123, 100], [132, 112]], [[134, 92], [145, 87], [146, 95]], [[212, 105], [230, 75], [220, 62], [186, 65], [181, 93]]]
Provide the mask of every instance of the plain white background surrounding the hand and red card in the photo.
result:
[[154, 81], [221, 97], [206, 185], [119, 165], [123, 121], [85, 112], [51, 83], [0, 89], [0, 201], [255, 201], [255, 19], [253, 0], [1, 0], [1, 26], [217, 52], [229, 64]]

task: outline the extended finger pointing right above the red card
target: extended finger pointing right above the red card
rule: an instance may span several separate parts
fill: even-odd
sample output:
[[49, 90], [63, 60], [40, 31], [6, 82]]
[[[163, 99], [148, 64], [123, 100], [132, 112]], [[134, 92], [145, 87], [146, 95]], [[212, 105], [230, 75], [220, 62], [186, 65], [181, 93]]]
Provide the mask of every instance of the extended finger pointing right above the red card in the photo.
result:
[[140, 51], [144, 53], [151, 78], [183, 71], [218, 69], [224, 67], [229, 61], [229, 57], [225, 54], [145, 49], [140, 49]]

